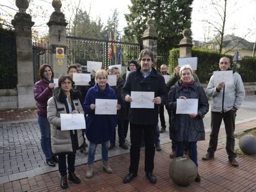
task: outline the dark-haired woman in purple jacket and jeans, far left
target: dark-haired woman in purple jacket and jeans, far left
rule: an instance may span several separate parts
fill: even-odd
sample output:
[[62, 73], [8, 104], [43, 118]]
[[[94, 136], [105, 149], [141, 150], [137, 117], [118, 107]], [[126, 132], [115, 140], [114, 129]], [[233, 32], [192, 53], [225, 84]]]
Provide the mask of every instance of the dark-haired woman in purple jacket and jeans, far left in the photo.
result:
[[34, 96], [36, 100], [38, 124], [41, 132], [41, 148], [45, 154], [46, 164], [51, 167], [56, 165], [58, 158], [53, 155], [51, 151], [51, 137], [50, 125], [47, 119], [47, 101], [53, 96], [53, 83], [54, 73], [51, 66], [48, 64], [41, 65], [39, 69], [40, 81], [35, 83]]

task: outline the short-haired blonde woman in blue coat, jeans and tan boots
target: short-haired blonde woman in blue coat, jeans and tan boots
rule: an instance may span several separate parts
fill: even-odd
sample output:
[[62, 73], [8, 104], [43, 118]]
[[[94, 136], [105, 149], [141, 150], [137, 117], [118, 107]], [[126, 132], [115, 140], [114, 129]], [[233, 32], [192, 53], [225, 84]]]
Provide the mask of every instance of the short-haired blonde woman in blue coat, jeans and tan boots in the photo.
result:
[[95, 81], [96, 85], [88, 90], [83, 103], [83, 107], [88, 114], [85, 134], [88, 141], [90, 141], [86, 173], [87, 178], [93, 176], [92, 164], [95, 159], [97, 144], [101, 144], [103, 169], [108, 173], [113, 172], [108, 163], [108, 142], [111, 140], [117, 125], [116, 115], [95, 114], [95, 107], [97, 107], [95, 106], [95, 99], [116, 99], [116, 93], [114, 93], [114, 90], [110, 88], [107, 83], [108, 73], [106, 70], [98, 70], [95, 74]]

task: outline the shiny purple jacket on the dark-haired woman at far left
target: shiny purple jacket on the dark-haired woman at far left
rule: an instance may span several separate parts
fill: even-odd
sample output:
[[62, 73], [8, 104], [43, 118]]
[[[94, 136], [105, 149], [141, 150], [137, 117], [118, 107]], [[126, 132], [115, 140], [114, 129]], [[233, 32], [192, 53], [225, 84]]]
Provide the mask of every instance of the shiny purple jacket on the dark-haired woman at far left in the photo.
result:
[[45, 78], [37, 81], [34, 88], [34, 96], [37, 107], [37, 114], [41, 117], [47, 117], [47, 101], [53, 96], [53, 90], [49, 88], [50, 81]]

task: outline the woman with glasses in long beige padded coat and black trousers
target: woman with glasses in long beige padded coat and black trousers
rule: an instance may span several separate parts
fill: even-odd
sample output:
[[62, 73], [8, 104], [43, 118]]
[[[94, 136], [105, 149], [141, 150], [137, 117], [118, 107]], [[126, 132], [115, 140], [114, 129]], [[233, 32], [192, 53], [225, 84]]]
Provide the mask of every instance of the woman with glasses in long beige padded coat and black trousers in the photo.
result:
[[61, 173], [61, 188], [67, 188], [68, 179], [80, 183], [75, 175], [75, 151], [83, 144], [82, 130], [61, 130], [60, 114], [84, 113], [79, 101], [80, 93], [72, 89], [74, 81], [69, 76], [59, 78], [59, 88], [54, 89], [53, 97], [48, 100], [47, 118], [51, 124], [51, 148], [59, 157], [59, 172]]

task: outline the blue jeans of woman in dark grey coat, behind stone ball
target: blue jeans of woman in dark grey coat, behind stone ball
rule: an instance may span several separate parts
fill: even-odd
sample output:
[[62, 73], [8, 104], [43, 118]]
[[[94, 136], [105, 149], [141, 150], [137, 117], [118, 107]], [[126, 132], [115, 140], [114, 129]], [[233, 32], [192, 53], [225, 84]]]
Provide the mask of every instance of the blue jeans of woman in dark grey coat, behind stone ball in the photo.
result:
[[195, 142], [182, 142], [182, 141], [176, 141], [177, 144], [177, 151], [176, 156], [182, 157], [184, 149], [188, 146], [189, 148], [189, 157], [190, 159], [195, 163], [195, 165], [198, 167], [197, 163], [197, 141]]

